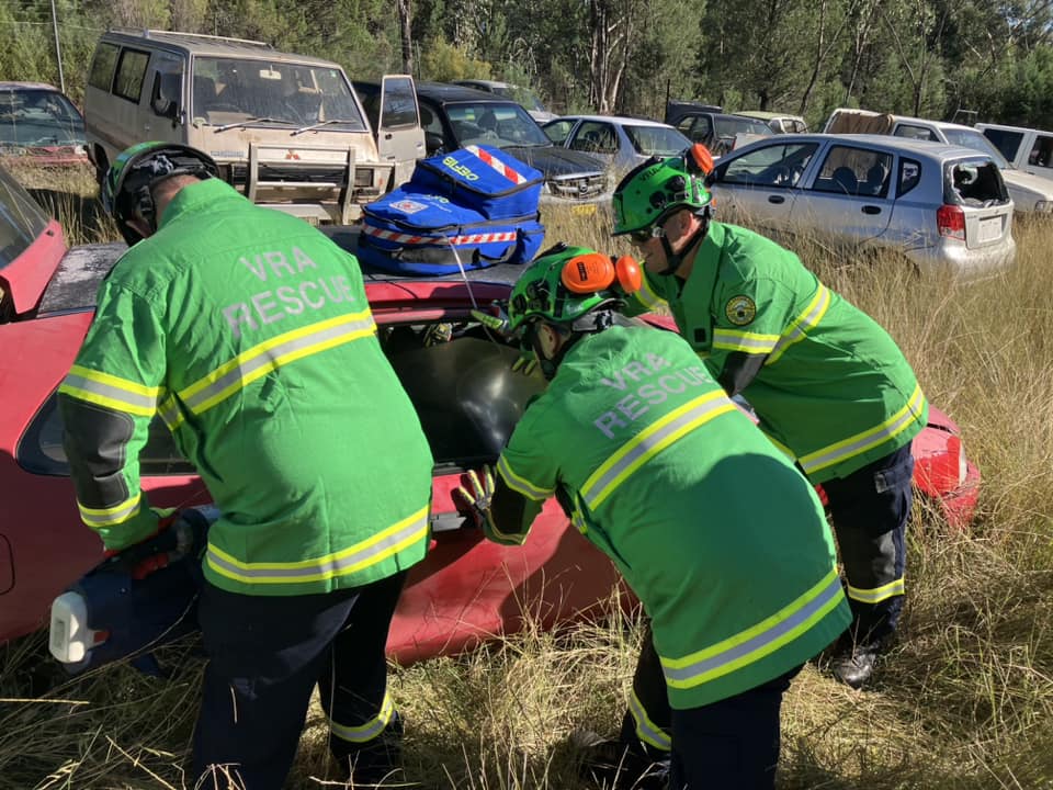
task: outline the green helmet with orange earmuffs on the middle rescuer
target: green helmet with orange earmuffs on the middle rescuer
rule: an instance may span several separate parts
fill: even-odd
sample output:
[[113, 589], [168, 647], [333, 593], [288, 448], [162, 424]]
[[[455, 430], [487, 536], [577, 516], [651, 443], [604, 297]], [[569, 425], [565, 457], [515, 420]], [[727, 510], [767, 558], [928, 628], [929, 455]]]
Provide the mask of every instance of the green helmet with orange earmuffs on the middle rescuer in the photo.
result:
[[512, 287], [508, 331], [536, 319], [582, 329], [575, 323], [636, 291], [641, 280], [632, 258], [613, 260], [588, 247], [558, 244], [542, 252]]

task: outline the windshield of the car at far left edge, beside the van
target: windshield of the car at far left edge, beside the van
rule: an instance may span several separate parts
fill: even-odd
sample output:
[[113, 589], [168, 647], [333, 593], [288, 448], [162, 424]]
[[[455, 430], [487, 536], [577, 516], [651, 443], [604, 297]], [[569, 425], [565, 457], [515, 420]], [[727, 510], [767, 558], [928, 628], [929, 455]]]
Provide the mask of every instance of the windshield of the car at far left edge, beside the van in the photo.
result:
[[83, 144], [84, 120], [73, 103], [58, 91], [0, 90], [0, 146]]

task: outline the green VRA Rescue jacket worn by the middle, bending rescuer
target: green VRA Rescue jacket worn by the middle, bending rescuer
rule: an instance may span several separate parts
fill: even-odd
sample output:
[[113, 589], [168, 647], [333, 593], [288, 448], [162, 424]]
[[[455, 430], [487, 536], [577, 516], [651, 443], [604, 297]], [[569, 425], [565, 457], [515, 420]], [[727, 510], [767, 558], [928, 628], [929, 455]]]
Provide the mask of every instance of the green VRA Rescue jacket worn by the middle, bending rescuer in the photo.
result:
[[[497, 471], [529, 500], [559, 490], [573, 503], [573, 522], [653, 619], [673, 708], [779, 677], [848, 625], [815, 490], [671, 332], [582, 338]], [[486, 529], [526, 537], [521, 524]]]

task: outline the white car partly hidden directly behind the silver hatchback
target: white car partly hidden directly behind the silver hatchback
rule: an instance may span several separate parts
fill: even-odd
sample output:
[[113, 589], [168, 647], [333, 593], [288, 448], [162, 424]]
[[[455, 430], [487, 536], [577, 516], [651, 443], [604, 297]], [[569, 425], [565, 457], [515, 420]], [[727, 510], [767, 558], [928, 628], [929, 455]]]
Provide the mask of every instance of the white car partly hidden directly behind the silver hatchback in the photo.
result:
[[[977, 127], [980, 125], [977, 124]], [[1030, 214], [1053, 213], [1053, 182], [1016, 167], [1012, 159], [1003, 156], [1005, 151], [999, 153], [998, 146], [993, 145], [990, 139], [972, 126], [840, 108], [830, 113], [823, 131], [827, 134], [886, 134], [975, 148], [997, 162], [1016, 211]]]

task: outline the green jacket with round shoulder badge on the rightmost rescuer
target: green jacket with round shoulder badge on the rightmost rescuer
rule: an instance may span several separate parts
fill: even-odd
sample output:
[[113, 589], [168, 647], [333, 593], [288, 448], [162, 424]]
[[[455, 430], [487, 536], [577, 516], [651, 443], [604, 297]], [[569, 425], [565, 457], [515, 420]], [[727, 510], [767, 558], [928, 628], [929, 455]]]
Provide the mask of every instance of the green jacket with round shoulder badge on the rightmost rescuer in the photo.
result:
[[815, 483], [898, 450], [928, 420], [888, 334], [763, 236], [711, 222], [687, 282], [647, 272], [626, 313], [663, 304], [714, 375], [731, 354], [766, 358], [743, 396]]

